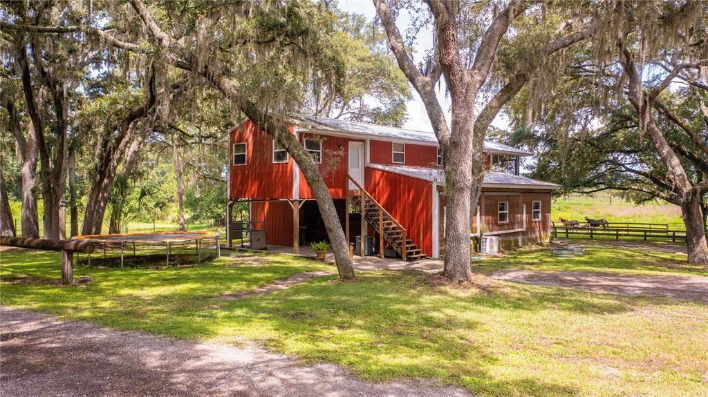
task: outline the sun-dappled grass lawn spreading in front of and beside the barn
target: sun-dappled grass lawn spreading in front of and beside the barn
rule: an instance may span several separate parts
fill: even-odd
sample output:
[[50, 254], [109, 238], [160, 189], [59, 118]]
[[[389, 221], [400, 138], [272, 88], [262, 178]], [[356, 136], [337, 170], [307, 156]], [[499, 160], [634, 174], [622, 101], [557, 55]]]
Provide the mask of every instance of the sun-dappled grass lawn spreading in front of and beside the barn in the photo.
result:
[[[559, 266], [665, 271], [655, 254], [631, 254], [612, 266], [619, 253], [598, 248], [593, 257], [602, 263]], [[327, 276], [268, 295], [215, 299], [324, 268], [287, 256], [238, 266], [244, 261], [253, 259], [154, 270], [82, 267], [76, 275], [93, 275], [85, 286], [4, 281], [1, 303], [176, 338], [255, 340], [304, 362], [345, 365], [365, 379], [423, 378], [481, 396], [708, 395], [705, 304], [501, 282], [489, 290], [434, 288], [424, 275], [384, 271], [359, 273], [358, 283]], [[530, 261], [554, 266], [534, 251], [480, 266]], [[0, 277], [58, 278], [58, 263], [56, 254], [5, 251]]]

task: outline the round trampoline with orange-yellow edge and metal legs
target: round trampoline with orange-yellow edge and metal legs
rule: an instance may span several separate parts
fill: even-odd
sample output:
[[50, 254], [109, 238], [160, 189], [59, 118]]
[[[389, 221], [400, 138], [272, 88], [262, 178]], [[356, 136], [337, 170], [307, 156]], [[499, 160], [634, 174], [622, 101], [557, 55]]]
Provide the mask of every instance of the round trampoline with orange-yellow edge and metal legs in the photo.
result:
[[[193, 235], [201, 236], [195, 237]], [[189, 238], [171, 238], [171, 239], [131, 239], [130, 237], [138, 235], [190, 235]], [[125, 238], [115, 238], [115, 237], [125, 237]], [[105, 237], [114, 237], [107, 239]], [[89, 241], [96, 244], [101, 244], [103, 246], [103, 260], [105, 261], [105, 247], [109, 243], [120, 243], [120, 268], [123, 268], [123, 261], [125, 256], [125, 244], [132, 244], [133, 248], [133, 258], [135, 259], [135, 244], [167, 244], [166, 250], [166, 266], [170, 266], [170, 254], [173, 243], [188, 243], [195, 242], [195, 249], [197, 251], [197, 261], [202, 261], [202, 240], [204, 239], [215, 239], [217, 258], [221, 258], [221, 246], [219, 245], [219, 233], [217, 232], [133, 232], [133, 233], [114, 233], [114, 234], [103, 234], [103, 235], [80, 235], [72, 237], [72, 240]], [[78, 259], [77, 259], [78, 260]], [[91, 266], [91, 254], [89, 254], [89, 266]]]

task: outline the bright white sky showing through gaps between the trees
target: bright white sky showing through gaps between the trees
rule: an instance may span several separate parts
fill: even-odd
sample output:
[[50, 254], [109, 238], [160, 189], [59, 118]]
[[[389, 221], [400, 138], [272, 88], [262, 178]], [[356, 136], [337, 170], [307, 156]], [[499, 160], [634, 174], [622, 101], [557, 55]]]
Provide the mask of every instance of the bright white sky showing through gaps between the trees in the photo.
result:
[[[367, 18], [367, 20], [372, 20], [376, 16], [376, 9], [371, 0], [341, 0], [339, 2], [339, 8], [342, 11], [348, 13], [359, 13]], [[399, 30], [402, 35], [405, 35], [406, 28], [410, 25], [410, 16], [406, 12], [401, 12], [399, 18], [396, 20], [396, 25], [398, 25]], [[433, 32], [430, 30], [421, 30], [416, 37], [416, 43], [413, 46], [413, 61], [418, 61], [421, 54], [425, 54], [427, 49], [433, 47]], [[445, 82], [440, 81], [439, 88], [436, 87], [438, 91], [438, 101], [442, 109], [445, 109], [447, 124], [450, 124], [450, 98], [445, 94]], [[423, 105], [421, 97], [418, 96], [416, 90], [411, 86], [411, 93], [413, 93], [413, 99], [407, 104], [408, 117], [404, 127], [407, 129], [416, 129], [420, 131], [433, 131], [430, 126], [430, 120], [428, 119], [428, 114], [426, 112], [426, 107]], [[493, 126], [500, 129], [506, 129], [508, 127], [508, 121], [503, 116], [498, 116], [494, 122]]]

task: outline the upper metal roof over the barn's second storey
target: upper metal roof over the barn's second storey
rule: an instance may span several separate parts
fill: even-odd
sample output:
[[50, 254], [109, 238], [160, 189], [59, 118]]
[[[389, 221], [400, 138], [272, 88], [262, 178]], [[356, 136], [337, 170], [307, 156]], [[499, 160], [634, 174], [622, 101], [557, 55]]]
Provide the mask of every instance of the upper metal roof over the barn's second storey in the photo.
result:
[[[392, 126], [382, 126], [379, 124], [369, 124], [360, 122], [350, 122], [347, 120], [328, 119], [326, 117], [314, 117], [304, 114], [290, 114], [296, 124], [306, 126], [311, 131], [327, 131], [339, 132], [348, 135], [384, 138], [391, 141], [411, 141], [413, 143], [421, 143], [438, 146], [438, 138], [435, 134], [429, 131], [419, 131], [414, 129], [402, 129]], [[503, 154], [503, 155], [518, 155], [530, 156], [524, 150], [513, 148], [502, 143], [484, 141], [484, 151], [487, 153]]]

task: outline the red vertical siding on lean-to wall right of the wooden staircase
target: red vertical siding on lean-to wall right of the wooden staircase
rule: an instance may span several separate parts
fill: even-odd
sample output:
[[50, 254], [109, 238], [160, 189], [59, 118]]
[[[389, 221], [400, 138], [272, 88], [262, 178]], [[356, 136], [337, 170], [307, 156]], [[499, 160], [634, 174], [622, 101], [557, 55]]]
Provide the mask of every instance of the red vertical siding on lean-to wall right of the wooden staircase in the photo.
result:
[[[433, 185], [367, 167], [365, 187], [394, 218], [406, 228], [409, 238], [423, 253], [433, 255]], [[423, 239], [421, 240], [421, 231]]]

